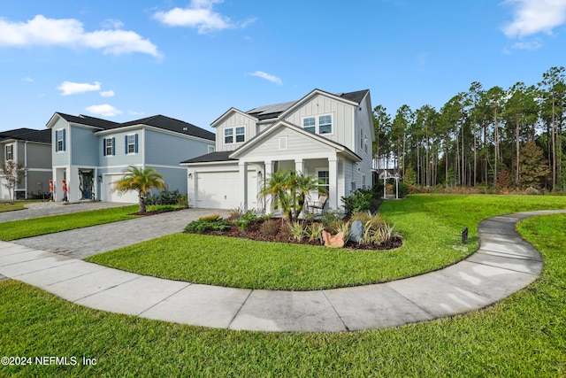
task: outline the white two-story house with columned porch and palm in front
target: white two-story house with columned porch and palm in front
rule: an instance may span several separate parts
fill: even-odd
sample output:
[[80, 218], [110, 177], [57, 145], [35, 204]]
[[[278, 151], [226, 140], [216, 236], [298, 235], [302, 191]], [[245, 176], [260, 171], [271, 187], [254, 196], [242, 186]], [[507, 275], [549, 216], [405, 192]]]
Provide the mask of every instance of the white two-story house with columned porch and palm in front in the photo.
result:
[[[333, 95], [314, 89], [290, 103], [249, 112], [231, 108], [211, 126], [217, 129], [216, 151], [181, 162], [195, 207], [271, 212], [258, 193], [273, 172], [288, 168], [317, 176], [333, 209], [342, 207], [340, 197], [371, 187], [369, 90]], [[311, 193], [311, 200], [317, 198]]]

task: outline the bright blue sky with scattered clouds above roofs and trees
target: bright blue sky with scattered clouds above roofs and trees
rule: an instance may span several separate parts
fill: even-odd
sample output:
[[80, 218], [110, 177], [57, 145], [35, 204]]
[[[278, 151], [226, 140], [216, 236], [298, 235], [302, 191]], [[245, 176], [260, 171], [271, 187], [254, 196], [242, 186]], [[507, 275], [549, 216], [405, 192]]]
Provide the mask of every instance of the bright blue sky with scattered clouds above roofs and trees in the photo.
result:
[[437, 109], [564, 66], [566, 0], [22, 0], [0, 4], [0, 130], [54, 112], [210, 129], [312, 89]]

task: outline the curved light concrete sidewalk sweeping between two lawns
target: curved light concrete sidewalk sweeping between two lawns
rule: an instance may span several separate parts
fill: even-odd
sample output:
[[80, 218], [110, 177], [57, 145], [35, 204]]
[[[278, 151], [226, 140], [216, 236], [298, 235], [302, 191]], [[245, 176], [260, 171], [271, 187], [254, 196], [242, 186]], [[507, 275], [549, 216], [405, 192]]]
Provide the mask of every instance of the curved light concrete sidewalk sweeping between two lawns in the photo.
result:
[[233, 289], [131, 274], [0, 243], [0, 274], [79, 305], [210, 328], [335, 332], [386, 328], [478, 310], [537, 279], [543, 262], [516, 233], [522, 212], [482, 221], [479, 250], [445, 269], [344, 289]]

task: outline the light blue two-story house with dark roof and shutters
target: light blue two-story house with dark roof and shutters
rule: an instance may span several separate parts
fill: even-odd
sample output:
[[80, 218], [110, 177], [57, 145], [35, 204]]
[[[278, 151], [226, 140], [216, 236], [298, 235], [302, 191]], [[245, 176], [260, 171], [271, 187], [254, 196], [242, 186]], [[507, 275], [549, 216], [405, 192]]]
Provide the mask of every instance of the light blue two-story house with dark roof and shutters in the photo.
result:
[[187, 193], [182, 158], [214, 150], [215, 135], [190, 123], [163, 115], [117, 123], [85, 115], [56, 112], [47, 123], [53, 140], [52, 174], [55, 199], [138, 202], [137, 192], [113, 191], [128, 166], [155, 168], [167, 188]]

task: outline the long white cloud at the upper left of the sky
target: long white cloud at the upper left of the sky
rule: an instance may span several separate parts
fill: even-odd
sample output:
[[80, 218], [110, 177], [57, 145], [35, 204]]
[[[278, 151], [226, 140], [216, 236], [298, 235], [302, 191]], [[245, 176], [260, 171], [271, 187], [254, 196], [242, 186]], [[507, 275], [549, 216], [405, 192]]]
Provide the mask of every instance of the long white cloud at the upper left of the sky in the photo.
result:
[[[112, 21], [111, 27], [121, 27]], [[0, 47], [63, 46], [103, 50], [119, 55], [142, 52], [159, 57], [157, 46], [132, 31], [108, 29], [86, 32], [78, 19], [46, 19], [41, 14], [27, 22], [0, 19]]]

